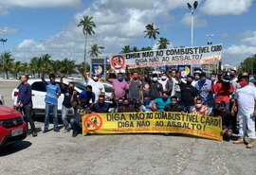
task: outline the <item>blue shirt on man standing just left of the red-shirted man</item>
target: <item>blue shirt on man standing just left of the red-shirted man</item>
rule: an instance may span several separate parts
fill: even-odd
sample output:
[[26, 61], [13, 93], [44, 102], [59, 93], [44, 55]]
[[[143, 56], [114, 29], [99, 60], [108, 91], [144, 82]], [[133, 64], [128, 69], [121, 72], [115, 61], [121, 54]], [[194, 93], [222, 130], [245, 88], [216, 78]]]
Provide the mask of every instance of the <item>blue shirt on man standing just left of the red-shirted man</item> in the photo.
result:
[[212, 91], [211, 89], [211, 80], [206, 79], [205, 83], [202, 83], [201, 80], [198, 80], [194, 87], [197, 89], [201, 99], [203, 100], [203, 103], [206, 105], [213, 105], [214, 103], [214, 98], [212, 93], [207, 93], [205, 92], [205, 89], [207, 88], [208, 90]]

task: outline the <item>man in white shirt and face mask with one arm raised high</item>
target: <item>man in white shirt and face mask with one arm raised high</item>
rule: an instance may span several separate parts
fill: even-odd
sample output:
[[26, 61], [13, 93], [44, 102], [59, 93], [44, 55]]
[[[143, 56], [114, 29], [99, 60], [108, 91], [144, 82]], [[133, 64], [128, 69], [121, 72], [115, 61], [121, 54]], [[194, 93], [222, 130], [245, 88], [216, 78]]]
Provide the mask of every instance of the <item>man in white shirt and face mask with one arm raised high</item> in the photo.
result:
[[93, 78], [91, 79], [85, 72], [83, 67], [80, 67], [80, 72], [86, 82], [86, 85], [91, 85], [93, 87], [93, 93], [95, 94], [96, 100], [98, 100], [98, 97], [100, 95], [105, 94], [105, 88], [103, 83], [99, 80], [99, 75], [94, 74]]

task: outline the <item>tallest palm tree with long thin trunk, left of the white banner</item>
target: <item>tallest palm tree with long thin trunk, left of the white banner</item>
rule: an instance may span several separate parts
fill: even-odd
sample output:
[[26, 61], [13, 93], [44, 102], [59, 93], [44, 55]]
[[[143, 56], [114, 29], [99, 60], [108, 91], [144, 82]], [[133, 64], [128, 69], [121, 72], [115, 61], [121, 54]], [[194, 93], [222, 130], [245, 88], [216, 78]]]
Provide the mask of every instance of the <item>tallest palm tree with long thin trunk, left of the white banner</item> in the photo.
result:
[[95, 34], [93, 28], [96, 27], [94, 22], [92, 21], [93, 17], [89, 16], [82, 16], [82, 19], [78, 26], [82, 26], [82, 33], [85, 36], [85, 42], [84, 42], [84, 70], [86, 72], [86, 44], [87, 44], [87, 35]]

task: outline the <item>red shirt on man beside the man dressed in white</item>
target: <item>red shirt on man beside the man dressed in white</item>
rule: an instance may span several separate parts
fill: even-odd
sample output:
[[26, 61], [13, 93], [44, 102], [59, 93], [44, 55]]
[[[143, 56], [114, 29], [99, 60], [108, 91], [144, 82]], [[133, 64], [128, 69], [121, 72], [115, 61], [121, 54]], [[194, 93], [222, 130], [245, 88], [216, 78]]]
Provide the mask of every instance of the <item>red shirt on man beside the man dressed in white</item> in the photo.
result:
[[232, 84], [229, 86], [223, 86], [221, 82], [217, 82], [216, 84], [211, 83], [212, 93], [215, 94], [215, 103], [220, 101], [225, 101], [229, 103], [229, 96], [233, 94], [234, 88]]

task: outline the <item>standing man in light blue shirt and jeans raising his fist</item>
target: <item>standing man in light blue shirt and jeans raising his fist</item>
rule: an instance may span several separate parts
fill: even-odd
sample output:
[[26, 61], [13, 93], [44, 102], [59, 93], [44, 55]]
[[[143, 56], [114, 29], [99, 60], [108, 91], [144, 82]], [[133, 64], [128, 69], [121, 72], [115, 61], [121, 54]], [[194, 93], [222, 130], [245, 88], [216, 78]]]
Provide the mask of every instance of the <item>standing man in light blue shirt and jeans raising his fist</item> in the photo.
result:
[[61, 88], [58, 83], [55, 82], [55, 74], [49, 75], [49, 81], [46, 81], [46, 69], [42, 70], [42, 81], [46, 85], [46, 117], [45, 117], [45, 130], [46, 133], [49, 128], [49, 114], [52, 111], [53, 115], [53, 131], [60, 131], [58, 129], [58, 98], [61, 96]]

